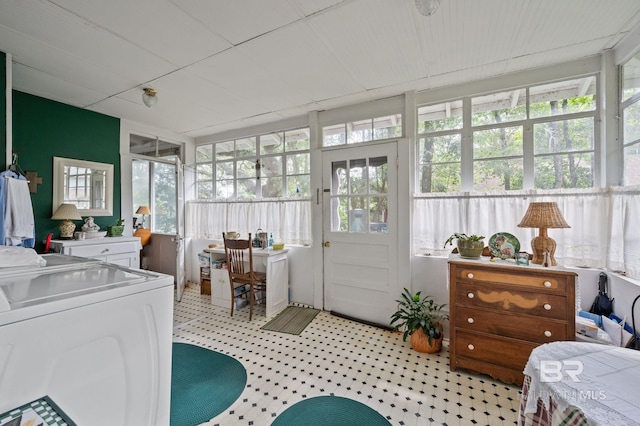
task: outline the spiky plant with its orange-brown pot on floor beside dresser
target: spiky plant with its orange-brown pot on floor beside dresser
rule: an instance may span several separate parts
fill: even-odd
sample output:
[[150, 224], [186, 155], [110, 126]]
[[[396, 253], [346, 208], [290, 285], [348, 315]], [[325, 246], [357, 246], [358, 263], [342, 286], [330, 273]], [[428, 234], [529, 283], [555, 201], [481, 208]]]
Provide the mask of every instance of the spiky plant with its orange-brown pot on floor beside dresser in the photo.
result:
[[391, 325], [397, 331], [404, 329], [402, 340], [411, 336], [411, 346], [418, 352], [436, 353], [442, 349], [442, 321], [449, 315], [442, 312], [445, 305], [439, 305], [431, 296], [421, 296], [421, 292], [411, 294], [406, 288], [402, 298], [396, 300], [398, 310], [391, 315]]

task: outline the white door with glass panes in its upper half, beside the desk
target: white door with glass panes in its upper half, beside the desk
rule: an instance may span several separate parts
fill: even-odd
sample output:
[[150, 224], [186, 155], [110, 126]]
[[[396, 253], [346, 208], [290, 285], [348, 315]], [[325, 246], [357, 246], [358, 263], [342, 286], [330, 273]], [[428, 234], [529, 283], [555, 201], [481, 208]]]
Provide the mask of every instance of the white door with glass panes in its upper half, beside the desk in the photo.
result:
[[397, 143], [323, 153], [324, 308], [381, 325], [397, 309]]

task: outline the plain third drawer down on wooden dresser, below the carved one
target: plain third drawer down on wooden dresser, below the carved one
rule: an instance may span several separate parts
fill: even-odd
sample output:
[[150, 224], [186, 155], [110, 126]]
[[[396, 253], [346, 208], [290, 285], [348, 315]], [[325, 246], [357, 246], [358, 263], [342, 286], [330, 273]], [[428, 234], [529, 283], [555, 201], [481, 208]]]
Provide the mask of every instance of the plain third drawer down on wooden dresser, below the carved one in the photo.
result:
[[569, 340], [566, 322], [553, 319], [458, 307], [454, 320], [459, 330], [471, 333], [489, 333], [536, 343]]

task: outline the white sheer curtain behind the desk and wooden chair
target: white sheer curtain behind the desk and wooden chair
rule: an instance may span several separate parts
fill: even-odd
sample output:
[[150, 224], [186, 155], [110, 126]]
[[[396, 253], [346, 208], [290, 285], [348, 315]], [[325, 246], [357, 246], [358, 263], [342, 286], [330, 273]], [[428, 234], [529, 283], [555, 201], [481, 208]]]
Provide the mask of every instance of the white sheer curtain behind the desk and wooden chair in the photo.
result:
[[272, 233], [276, 241], [311, 244], [311, 201], [253, 202], [189, 201], [186, 234], [191, 238], [222, 239], [226, 231], [255, 236], [258, 229]]

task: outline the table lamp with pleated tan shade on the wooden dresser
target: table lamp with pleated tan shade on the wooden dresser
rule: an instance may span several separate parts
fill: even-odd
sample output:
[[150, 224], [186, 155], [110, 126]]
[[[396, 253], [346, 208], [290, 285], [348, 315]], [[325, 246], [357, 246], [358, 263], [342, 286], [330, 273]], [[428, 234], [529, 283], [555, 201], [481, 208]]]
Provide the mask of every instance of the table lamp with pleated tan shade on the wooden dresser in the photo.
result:
[[531, 263], [542, 265], [545, 253], [548, 256], [547, 266], [556, 266], [555, 257], [556, 242], [547, 236], [547, 228], [571, 228], [565, 222], [558, 208], [558, 204], [551, 203], [531, 203], [524, 217], [518, 224], [520, 228], [540, 228], [540, 235], [531, 240], [533, 249], [533, 259]]

